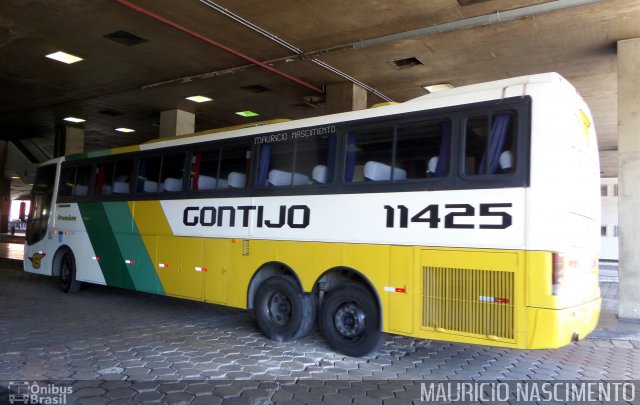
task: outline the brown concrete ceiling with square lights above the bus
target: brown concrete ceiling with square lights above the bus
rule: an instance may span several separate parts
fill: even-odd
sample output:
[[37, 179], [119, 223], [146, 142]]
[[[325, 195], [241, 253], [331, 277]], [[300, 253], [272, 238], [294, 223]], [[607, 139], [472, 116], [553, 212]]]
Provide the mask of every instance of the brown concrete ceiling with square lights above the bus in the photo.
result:
[[[156, 138], [160, 112], [176, 108], [196, 114], [196, 131], [322, 115], [326, 108], [318, 89], [346, 81], [322, 63], [370, 86], [369, 104], [406, 101], [433, 83], [462, 86], [556, 71], [593, 111], [603, 176], [617, 175], [616, 42], [640, 37], [640, 1], [127, 1], [2, 2], [2, 139], [36, 138], [52, 150], [54, 128], [69, 115], [87, 120], [87, 151]], [[119, 31], [145, 41], [132, 45], [105, 38]], [[59, 50], [84, 60], [66, 65], [44, 57]], [[415, 60], [408, 67], [393, 63], [409, 58]], [[196, 94], [214, 101], [185, 100]], [[242, 110], [260, 116], [234, 114]], [[122, 126], [136, 132], [114, 131]]]

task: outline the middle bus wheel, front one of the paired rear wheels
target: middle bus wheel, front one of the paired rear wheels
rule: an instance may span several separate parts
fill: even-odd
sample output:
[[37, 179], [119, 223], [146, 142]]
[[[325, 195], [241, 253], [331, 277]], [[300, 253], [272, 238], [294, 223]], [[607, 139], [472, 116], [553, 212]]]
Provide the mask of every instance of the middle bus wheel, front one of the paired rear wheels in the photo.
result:
[[285, 276], [266, 279], [256, 292], [253, 314], [258, 329], [269, 339], [286, 342], [307, 336], [315, 324], [316, 306], [311, 295]]

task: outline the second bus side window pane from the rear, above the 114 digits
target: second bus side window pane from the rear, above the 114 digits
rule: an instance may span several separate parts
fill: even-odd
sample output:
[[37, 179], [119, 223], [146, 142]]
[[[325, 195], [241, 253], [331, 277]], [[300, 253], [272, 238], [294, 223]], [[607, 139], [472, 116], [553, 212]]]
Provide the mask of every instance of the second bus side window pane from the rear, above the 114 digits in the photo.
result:
[[407, 179], [449, 173], [451, 123], [448, 120], [402, 125], [397, 129], [395, 165]]

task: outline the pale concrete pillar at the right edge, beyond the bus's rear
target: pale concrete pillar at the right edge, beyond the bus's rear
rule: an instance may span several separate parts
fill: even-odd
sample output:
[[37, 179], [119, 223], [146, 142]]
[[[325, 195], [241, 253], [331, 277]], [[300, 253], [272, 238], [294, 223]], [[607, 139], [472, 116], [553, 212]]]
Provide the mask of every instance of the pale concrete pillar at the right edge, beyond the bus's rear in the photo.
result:
[[640, 319], [640, 38], [618, 42], [618, 317]]

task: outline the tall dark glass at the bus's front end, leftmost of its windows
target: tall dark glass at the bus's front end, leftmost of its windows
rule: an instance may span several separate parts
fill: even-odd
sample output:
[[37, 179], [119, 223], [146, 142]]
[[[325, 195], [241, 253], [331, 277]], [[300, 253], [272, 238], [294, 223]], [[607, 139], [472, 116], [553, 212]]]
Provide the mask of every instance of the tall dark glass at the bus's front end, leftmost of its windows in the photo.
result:
[[55, 179], [55, 165], [42, 166], [36, 173], [36, 180], [31, 191], [31, 209], [27, 221], [26, 240], [28, 245], [42, 240], [47, 234]]

